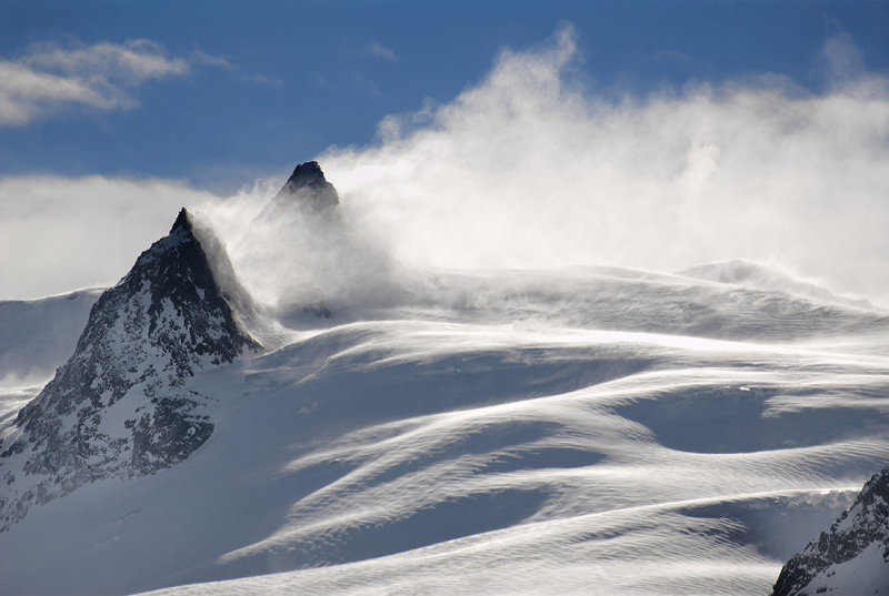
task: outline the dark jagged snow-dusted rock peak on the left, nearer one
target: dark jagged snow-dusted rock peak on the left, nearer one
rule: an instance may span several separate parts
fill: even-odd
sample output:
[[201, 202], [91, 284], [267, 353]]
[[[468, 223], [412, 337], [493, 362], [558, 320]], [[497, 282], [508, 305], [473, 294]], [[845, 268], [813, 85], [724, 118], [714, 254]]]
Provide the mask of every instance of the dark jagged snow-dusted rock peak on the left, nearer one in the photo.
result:
[[153, 474], [188, 457], [213, 423], [211, 398], [187, 381], [256, 346], [183, 209], [170, 234], [99, 297], [74, 354], [3, 432], [0, 529], [86, 483]]

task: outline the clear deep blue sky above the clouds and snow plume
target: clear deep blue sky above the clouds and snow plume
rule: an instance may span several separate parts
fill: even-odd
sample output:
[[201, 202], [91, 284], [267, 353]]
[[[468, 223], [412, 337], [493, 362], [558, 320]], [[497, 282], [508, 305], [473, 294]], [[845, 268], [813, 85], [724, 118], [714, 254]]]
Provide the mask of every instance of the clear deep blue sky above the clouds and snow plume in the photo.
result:
[[186, 68], [123, 83], [124, 109], [59, 101], [3, 127], [0, 174], [231, 190], [329, 145], [372, 143], [384, 115], [452, 100], [501, 48], [540, 44], [566, 21], [581, 80], [602, 94], [763, 72], [817, 91], [818, 52], [837, 31], [869, 69], [889, 69], [887, 2], [6, 1], [3, 60], [143, 39]]

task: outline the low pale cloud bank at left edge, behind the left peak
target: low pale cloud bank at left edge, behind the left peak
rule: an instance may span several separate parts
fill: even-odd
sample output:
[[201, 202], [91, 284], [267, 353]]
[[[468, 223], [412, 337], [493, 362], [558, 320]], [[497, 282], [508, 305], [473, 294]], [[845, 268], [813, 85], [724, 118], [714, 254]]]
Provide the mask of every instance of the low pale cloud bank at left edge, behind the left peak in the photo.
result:
[[212, 196], [167, 180], [0, 178], [0, 300], [110, 285]]

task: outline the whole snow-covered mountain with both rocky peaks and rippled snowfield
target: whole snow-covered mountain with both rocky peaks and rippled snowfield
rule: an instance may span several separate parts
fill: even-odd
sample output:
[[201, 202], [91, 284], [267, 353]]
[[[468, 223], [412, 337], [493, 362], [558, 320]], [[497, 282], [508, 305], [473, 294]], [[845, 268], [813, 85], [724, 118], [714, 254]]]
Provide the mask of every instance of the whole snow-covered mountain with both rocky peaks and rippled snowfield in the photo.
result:
[[885, 312], [613, 267], [380, 291], [329, 220], [260, 246], [277, 309], [186, 213], [96, 303], [0, 426], [0, 593], [768, 594], [889, 462]]

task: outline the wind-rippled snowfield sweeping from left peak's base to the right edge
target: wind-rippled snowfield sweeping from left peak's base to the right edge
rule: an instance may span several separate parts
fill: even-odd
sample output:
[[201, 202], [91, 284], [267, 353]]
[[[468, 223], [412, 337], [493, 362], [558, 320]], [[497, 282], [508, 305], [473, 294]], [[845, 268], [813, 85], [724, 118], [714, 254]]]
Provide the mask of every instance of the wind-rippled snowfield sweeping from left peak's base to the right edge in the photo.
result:
[[202, 373], [210, 440], [34, 507], [0, 593], [765, 595], [889, 462], [885, 313], [525, 275]]

